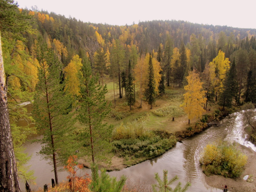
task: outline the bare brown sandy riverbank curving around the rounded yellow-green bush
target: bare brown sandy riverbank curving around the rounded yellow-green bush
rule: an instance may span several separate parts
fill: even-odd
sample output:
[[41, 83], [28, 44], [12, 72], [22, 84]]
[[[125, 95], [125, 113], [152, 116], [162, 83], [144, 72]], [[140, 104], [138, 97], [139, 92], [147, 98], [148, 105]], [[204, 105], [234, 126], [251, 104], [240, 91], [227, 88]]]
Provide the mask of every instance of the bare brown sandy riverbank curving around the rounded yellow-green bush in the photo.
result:
[[[245, 147], [240, 144], [237, 144], [237, 148], [248, 157], [242, 175], [236, 179], [225, 178], [220, 175], [204, 175], [205, 181], [209, 186], [221, 189], [221, 185], [227, 185], [228, 191], [230, 192], [256, 191], [256, 152], [253, 151], [251, 148]], [[253, 182], [247, 182], [243, 179], [245, 175], [250, 174], [252, 174], [251, 179], [253, 180]]]

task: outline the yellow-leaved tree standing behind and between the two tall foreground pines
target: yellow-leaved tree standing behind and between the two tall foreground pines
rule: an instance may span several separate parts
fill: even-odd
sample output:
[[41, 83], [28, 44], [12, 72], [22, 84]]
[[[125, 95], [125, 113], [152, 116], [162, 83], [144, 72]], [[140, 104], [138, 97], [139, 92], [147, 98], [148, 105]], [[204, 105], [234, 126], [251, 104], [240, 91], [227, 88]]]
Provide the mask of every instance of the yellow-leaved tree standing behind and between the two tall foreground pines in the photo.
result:
[[64, 91], [70, 93], [73, 97], [80, 95], [80, 80], [82, 68], [82, 59], [78, 55], [74, 55], [72, 60], [64, 68], [66, 86]]

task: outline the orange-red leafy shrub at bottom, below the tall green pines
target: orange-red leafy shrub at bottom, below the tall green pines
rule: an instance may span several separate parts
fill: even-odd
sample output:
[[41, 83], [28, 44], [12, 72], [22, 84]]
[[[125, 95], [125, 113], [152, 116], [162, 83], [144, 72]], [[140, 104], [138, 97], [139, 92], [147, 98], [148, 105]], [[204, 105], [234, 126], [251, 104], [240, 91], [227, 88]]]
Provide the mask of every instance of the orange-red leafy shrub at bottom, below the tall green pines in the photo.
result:
[[[91, 183], [88, 174], [78, 177], [76, 175], [77, 170], [83, 168], [83, 165], [76, 165], [77, 156], [73, 155], [68, 158], [67, 165], [64, 168], [69, 172], [69, 176], [67, 177], [68, 183], [66, 183], [66, 188], [70, 189], [71, 192], [90, 192], [88, 189], [88, 185]], [[60, 185], [59, 185], [60, 186]]]

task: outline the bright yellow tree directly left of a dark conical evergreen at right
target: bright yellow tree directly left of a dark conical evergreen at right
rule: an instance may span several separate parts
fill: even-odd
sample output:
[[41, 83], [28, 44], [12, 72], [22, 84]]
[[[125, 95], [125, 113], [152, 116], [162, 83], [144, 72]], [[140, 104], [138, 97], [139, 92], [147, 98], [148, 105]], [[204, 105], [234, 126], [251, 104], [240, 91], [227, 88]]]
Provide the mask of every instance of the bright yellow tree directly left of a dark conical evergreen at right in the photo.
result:
[[225, 53], [221, 50], [218, 55], [209, 63], [210, 67], [210, 81], [215, 90], [215, 101], [217, 101], [217, 95], [223, 87], [223, 81], [226, 76], [226, 72], [229, 70], [229, 59], [225, 58]]

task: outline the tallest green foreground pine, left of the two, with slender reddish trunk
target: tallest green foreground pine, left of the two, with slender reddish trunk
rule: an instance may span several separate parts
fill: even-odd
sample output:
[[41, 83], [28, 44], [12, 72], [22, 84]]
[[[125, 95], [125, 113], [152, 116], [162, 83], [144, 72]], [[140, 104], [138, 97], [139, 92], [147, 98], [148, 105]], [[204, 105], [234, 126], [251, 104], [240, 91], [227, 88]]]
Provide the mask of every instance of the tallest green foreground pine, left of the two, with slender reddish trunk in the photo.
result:
[[72, 130], [72, 114], [69, 112], [72, 100], [70, 95], [63, 91], [65, 83], [60, 83], [62, 64], [40, 37], [36, 45], [36, 54], [39, 68], [32, 114], [37, 128], [44, 135], [40, 140], [43, 144], [40, 154], [52, 160], [55, 181], [58, 184], [58, 162], [64, 163], [68, 158], [70, 140], [66, 134]]

